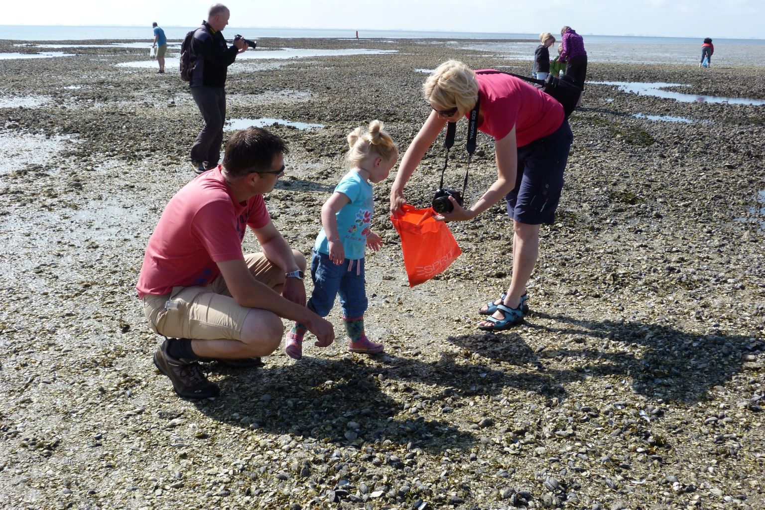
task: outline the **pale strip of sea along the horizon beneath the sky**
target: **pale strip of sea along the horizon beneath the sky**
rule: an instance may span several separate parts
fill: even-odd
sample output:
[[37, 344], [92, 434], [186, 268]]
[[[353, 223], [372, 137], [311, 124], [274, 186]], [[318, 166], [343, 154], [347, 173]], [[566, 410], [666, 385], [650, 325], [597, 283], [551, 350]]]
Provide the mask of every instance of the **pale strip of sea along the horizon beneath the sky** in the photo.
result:
[[[194, 27], [162, 27], [170, 41], [181, 41], [187, 31]], [[35, 44], [54, 41], [141, 41], [151, 45], [154, 36], [150, 26], [64, 26], [64, 25], [0, 25], [2, 38], [20, 43]], [[355, 40], [356, 31], [348, 29], [319, 28], [262, 28], [226, 27], [225, 34], [233, 37], [242, 34], [248, 39], [259, 37], [282, 38], [334, 38]], [[713, 34], [712, 34], [713, 35]], [[360, 30], [360, 41], [364, 39], [396, 40], [419, 39], [441, 40], [438, 44], [453, 44], [457, 47], [504, 54], [507, 58], [532, 60], [539, 34], [456, 32], [456, 31], [396, 31]], [[703, 37], [642, 37], [636, 35], [582, 34], [591, 62], [630, 63], [698, 63]], [[765, 50], [765, 39], [717, 39], [713, 61], [718, 65], [746, 66], [765, 65], [760, 63]]]

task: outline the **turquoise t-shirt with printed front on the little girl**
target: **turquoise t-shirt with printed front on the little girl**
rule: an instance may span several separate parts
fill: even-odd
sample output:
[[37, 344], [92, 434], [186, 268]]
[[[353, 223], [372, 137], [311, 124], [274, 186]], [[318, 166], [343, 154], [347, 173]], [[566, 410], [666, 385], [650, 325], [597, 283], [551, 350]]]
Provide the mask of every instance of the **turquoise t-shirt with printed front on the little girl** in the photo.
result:
[[[343, 243], [345, 258], [358, 260], [364, 258], [366, 251], [366, 235], [372, 226], [372, 184], [364, 180], [356, 171], [352, 170], [345, 174], [340, 183], [335, 187], [335, 193], [343, 193], [350, 199], [342, 209], [337, 211], [337, 232], [340, 232], [340, 241]], [[329, 242], [324, 228], [316, 238], [314, 249], [317, 252], [329, 255]]]

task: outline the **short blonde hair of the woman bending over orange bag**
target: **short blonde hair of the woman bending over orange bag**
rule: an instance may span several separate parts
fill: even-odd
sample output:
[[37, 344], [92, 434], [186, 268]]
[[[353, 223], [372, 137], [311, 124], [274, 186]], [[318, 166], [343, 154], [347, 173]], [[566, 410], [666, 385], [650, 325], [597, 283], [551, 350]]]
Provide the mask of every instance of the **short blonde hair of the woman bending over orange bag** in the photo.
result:
[[457, 106], [460, 115], [470, 111], [478, 99], [474, 70], [457, 60], [447, 60], [435, 68], [422, 85], [425, 99], [444, 109]]

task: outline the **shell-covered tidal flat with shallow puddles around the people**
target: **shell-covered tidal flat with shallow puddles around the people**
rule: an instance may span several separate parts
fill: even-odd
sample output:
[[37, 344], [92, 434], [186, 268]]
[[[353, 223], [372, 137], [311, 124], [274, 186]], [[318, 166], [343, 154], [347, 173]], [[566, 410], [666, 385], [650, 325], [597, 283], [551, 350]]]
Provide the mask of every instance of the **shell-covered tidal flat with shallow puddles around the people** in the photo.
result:
[[[201, 119], [174, 66], [119, 66], [147, 51], [109, 42], [0, 60], [0, 507], [765, 508], [765, 106], [588, 83], [532, 311], [496, 334], [476, 324], [509, 284], [504, 204], [450, 224], [463, 255], [409, 288], [392, 174], [375, 188], [386, 245], [366, 258], [366, 330], [386, 353], [347, 352], [336, 309], [332, 346], [309, 336], [300, 362], [278, 349], [261, 369], [213, 363], [222, 394], [194, 402], [151, 362], [161, 338], [134, 286], [165, 203], [194, 177]], [[0, 51], [39, 50], [14, 44]], [[454, 41], [261, 46], [314, 55], [234, 63], [226, 87], [229, 119], [275, 119], [289, 143], [267, 204], [305, 255], [347, 133], [381, 119], [403, 154], [425, 121], [422, 70], [529, 68]], [[588, 80], [765, 99], [755, 57], [596, 61]], [[493, 140], [478, 144], [468, 203], [496, 175]], [[429, 205], [443, 162], [437, 141], [410, 203]]]

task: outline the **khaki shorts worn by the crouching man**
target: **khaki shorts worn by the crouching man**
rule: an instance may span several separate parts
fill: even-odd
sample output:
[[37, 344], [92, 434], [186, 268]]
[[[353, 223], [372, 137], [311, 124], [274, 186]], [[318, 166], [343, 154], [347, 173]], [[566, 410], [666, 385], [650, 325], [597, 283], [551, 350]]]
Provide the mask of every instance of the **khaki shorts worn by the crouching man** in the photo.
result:
[[[262, 253], [244, 258], [257, 281], [271, 288], [284, 282], [282, 269]], [[170, 294], [146, 294], [141, 301], [151, 329], [176, 338], [241, 340], [244, 320], [252, 310], [236, 304], [220, 274], [204, 287], [173, 287]]]

